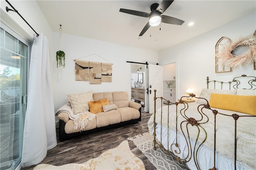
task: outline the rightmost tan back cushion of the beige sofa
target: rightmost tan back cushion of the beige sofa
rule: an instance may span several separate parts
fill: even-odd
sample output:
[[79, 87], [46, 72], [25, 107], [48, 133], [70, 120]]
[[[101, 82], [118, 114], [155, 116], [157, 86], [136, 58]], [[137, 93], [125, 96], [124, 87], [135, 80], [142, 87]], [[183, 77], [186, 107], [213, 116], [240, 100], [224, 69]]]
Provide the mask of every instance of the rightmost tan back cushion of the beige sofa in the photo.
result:
[[112, 92], [113, 103], [116, 104], [118, 108], [129, 107], [129, 96], [127, 92]]

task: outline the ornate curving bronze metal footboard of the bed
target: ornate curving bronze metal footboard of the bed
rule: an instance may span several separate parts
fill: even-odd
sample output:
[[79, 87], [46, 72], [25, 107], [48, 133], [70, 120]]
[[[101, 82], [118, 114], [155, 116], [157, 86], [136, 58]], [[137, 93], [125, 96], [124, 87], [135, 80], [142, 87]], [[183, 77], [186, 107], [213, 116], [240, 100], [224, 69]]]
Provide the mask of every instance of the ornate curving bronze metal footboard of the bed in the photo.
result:
[[[232, 130], [232, 133], [234, 133], [234, 150], [233, 150], [233, 157], [234, 158], [234, 169], [236, 170], [236, 164], [237, 164], [237, 124], [238, 120], [241, 119], [241, 121], [244, 117], [251, 117], [250, 119], [255, 119], [255, 115], [238, 115], [238, 114], [224, 114], [220, 113], [216, 109], [212, 109], [208, 103], [208, 100], [204, 98], [198, 98], [195, 94], [190, 94], [190, 96], [183, 96], [182, 98], [196, 98], [196, 99], [202, 99], [205, 100], [207, 104], [198, 104], [197, 109], [194, 109], [196, 111], [193, 111], [191, 113], [188, 103], [185, 101], [182, 101], [182, 98], [180, 99], [180, 102], [171, 103], [170, 101], [165, 100], [162, 97], [156, 97], [156, 90], [154, 90], [154, 149], [156, 149], [156, 145], [159, 145], [161, 148], [165, 149], [166, 152], [169, 154], [174, 155], [178, 161], [187, 163], [189, 161], [194, 161], [194, 164], [198, 170], [200, 170], [200, 160], [198, 159], [198, 152], [202, 145], [207, 145], [207, 138], [209, 138], [208, 133], [210, 133], [210, 139], [211, 141], [211, 148], [213, 150], [214, 154], [214, 160], [211, 167], [207, 167], [210, 170], [217, 170], [216, 168], [216, 144], [220, 146], [222, 144], [222, 141], [218, 141], [218, 133], [217, 129], [220, 125], [218, 125], [218, 121], [216, 121], [218, 118], [223, 119], [222, 117], [230, 117], [233, 121], [231, 121], [232, 126], [234, 126], [234, 129]], [[156, 111], [156, 100], [161, 100], [161, 107], [158, 109], [158, 113]], [[163, 109], [163, 100], [167, 102], [167, 109], [166, 107]], [[172, 107], [172, 110], [170, 109]], [[176, 109], [174, 109], [176, 108]], [[208, 113], [211, 115], [209, 115]], [[211, 120], [211, 123], [209, 123], [209, 116], [213, 120]], [[226, 118], [225, 118], [226, 119]], [[229, 118], [228, 118], [229, 119]], [[170, 122], [176, 122], [175, 125], [172, 125]], [[230, 121], [229, 121], [230, 122]], [[210, 125], [211, 126], [210, 126]], [[220, 124], [220, 123], [219, 123]], [[160, 133], [160, 139], [156, 137], [156, 129], [160, 129], [158, 133]], [[163, 126], [166, 126], [167, 129], [164, 131], [162, 128]], [[209, 130], [210, 127], [210, 130]], [[218, 128], [217, 128], [218, 127]], [[207, 129], [208, 128], [208, 129]], [[176, 135], [170, 136], [169, 135], [169, 129], [173, 129], [176, 132]], [[185, 143], [186, 143], [186, 150], [182, 150], [179, 146], [179, 140], [178, 139], [178, 133], [182, 134], [184, 137]], [[164, 135], [163, 135], [164, 134]], [[167, 136], [167, 144], [165, 142], [165, 145], [163, 145], [163, 139], [162, 136]], [[214, 137], [212, 137], [214, 136]], [[172, 138], [172, 143], [169, 144], [169, 139]], [[225, 140], [225, 139], [224, 139]], [[206, 143], [206, 144], [205, 144]], [[186, 153], [185, 156], [178, 156], [181, 153]]]

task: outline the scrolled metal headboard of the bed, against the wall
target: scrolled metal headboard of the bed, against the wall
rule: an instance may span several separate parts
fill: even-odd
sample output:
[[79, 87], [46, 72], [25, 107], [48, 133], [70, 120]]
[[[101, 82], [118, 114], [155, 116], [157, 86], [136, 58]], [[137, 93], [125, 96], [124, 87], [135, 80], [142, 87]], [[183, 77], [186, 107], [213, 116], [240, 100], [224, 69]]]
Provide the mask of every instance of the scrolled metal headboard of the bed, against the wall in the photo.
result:
[[229, 82], [220, 82], [217, 80], [209, 81], [209, 77], [206, 78], [207, 89], [209, 89], [209, 84], [213, 84], [213, 88], [216, 89], [247, 89], [247, 90], [255, 90], [256, 89], [256, 77], [254, 76], [247, 76], [243, 74], [240, 77], [233, 78], [232, 81]]

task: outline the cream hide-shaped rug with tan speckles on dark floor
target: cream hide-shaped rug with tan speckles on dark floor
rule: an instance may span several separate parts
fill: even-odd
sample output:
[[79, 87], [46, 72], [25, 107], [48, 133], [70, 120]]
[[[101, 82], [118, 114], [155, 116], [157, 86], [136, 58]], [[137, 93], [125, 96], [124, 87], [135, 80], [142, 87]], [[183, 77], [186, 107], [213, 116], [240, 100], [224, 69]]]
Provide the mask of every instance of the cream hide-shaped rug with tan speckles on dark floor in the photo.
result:
[[108, 149], [99, 157], [90, 159], [83, 164], [66, 164], [54, 166], [39, 164], [34, 170], [145, 170], [145, 166], [130, 150], [128, 141], [118, 147]]

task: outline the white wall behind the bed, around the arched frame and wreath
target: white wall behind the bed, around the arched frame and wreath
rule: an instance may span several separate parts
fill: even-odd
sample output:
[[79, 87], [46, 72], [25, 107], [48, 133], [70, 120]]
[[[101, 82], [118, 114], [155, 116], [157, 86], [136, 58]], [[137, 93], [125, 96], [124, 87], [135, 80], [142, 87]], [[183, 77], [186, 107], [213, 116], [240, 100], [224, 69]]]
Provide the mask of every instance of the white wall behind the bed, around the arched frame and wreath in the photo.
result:
[[252, 35], [256, 29], [256, 13], [232, 21], [222, 27], [189, 39], [183, 43], [159, 52], [159, 64], [176, 62], [176, 99], [185, 96], [186, 89], [192, 88], [199, 96], [206, 88], [206, 77], [210, 80], [232, 81], [236, 76], [256, 76], [253, 64], [242, 65], [232, 72], [215, 73], [215, 44], [222, 36], [234, 40], [240, 36]]

